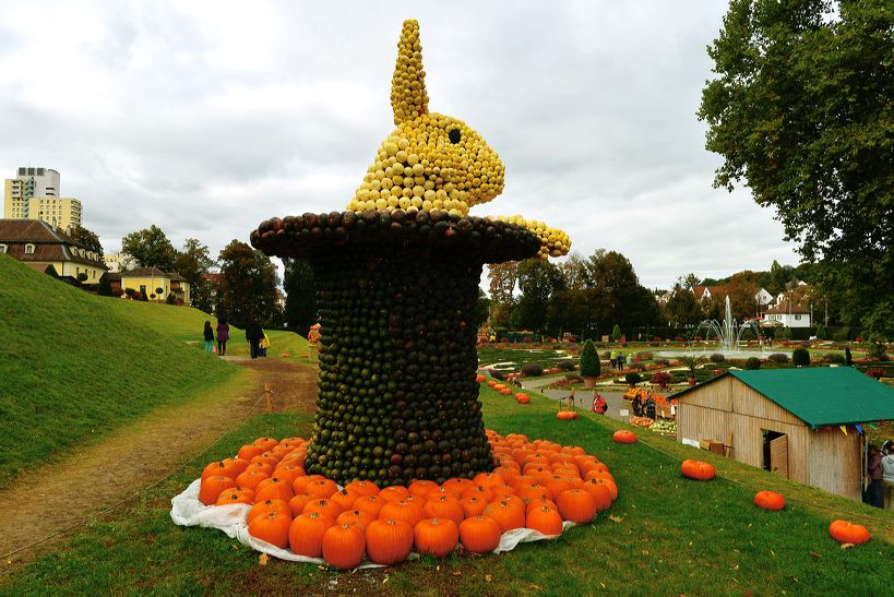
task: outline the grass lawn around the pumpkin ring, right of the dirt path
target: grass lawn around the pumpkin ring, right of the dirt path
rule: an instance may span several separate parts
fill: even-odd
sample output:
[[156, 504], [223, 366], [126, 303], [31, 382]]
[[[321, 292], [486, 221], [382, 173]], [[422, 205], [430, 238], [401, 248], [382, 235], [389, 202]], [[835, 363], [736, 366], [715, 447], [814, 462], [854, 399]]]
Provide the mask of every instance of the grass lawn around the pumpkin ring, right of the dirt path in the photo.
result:
[[[502, 556], [454, 554], [336, 573], [273, 559], [260, 565], [257, 552], [222, 532], [175, 526], [170, 498], [206, 461], [231, 455], [257, 437], [310, 432], [311, 413], [263, 415], [202, 462], [8, 578], [0, 593], [890, 594], [892, 514], [670, 439], [639, 432], [640, 443], [615, 444], [611, 432], [622, 423], [588, 414], [560, 421], [555, 402], [531, 395], [532, 404], [520, 406], [482, 385], [487, 426], [581, 445], [610, 467], [620, 489], [609, 513], [558, 540]], [[679, 463], [693, 456], [714, 463], [720, 477], [683, 479]], [[761, 489], [780, 491], [789, 505], [782, 512], [756, 509], [752, 498]], [[827, 533], [838, 517], [865, 524], [872, 540], [842, 549]]]

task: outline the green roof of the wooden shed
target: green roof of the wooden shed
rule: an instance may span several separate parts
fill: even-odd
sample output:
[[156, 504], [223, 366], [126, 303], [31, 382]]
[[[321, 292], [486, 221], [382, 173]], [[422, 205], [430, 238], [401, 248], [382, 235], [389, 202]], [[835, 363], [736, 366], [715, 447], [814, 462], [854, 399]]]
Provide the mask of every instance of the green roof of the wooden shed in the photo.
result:
[[823, 425], [894, 420], [894, 387], [851, 367], [727, 371], [669, 397], [677, 398], [727, 375], [748, 384], [814, 429]]

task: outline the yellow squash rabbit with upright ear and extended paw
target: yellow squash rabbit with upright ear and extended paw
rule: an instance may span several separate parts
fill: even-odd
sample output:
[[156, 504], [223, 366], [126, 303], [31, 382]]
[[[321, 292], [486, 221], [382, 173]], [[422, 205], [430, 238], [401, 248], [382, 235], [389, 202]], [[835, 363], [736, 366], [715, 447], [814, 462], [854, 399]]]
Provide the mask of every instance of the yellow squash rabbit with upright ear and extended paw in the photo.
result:
[[[415, 207], [466, 216], [469, 207], [503, 191], [505, 168], [497, 152], [462, 120], [428, 111], [421, 52], [419, 24], [405, 21], [391, 86], [397, 128], [379, 147], [349, 210]], [[499, 219], [537, 234], [541, 259], [565, 254], [571, 246], [568, 235], [540, 222], [531, 225], [520, 216]]]

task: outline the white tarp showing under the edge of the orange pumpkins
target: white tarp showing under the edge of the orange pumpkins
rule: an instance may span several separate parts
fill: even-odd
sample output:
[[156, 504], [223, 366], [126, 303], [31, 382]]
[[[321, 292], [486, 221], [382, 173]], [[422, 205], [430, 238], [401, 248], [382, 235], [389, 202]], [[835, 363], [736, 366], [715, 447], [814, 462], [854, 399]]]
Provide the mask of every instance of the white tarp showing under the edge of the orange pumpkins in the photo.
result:
[[[293, 562], [306, 562], [309, 564], [324, 564], [322, 558], [307, 558], [305, 556], [296, 556], [288, 549], [279, 549], [266, 541], [260, 541], [249, 535], [248, 525], [246, 524], [246, 515], [251, 505], [249, 504], [230, 504], [230, 505], [205, 505], [199, 501], [199, 487], [201, 479], [195, 479], [190, 486], [179, 495], [175, 495], [170, 501], [170, 518], [175, 524], [180, 526], [204, 526], [208, 528], [219, 528], [242, 545], [249, 546], [257, 551], [261, 551], [281, 560], [289, 560]], [[562, 523], [562, 530], [574, 526], [574, 523], [565, 521]], [[503, 533], [500, 537], [500, 545], [493, 550], [494, 553], [502, 553], [503, 551], [512, 551], [518, 544], [526, 544], [528, 541], [540, 541], [543, 539], [555, 539], [558, 537], [544, 535], [538, 530], [531, 528], [515, 528]], [[409, 559], [417, 558], [416, 553], [412, 553]], [[358, 568], [379, 568], [369, 560], [363, 560]]]

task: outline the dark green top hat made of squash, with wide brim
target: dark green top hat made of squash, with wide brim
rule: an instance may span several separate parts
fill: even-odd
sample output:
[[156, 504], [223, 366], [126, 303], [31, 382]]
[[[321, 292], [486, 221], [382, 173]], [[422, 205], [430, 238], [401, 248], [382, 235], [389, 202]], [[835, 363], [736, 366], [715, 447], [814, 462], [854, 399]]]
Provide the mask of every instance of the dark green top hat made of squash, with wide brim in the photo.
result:
[[515, 225], [454, 219], [336, 212], [252, 232], [266, 254], [313, 266], [321, 327], [309, 474], [385, 487], [493, 468], [476, 382], [478, 280], [484, 263], [533, 256], [539, 243]]

